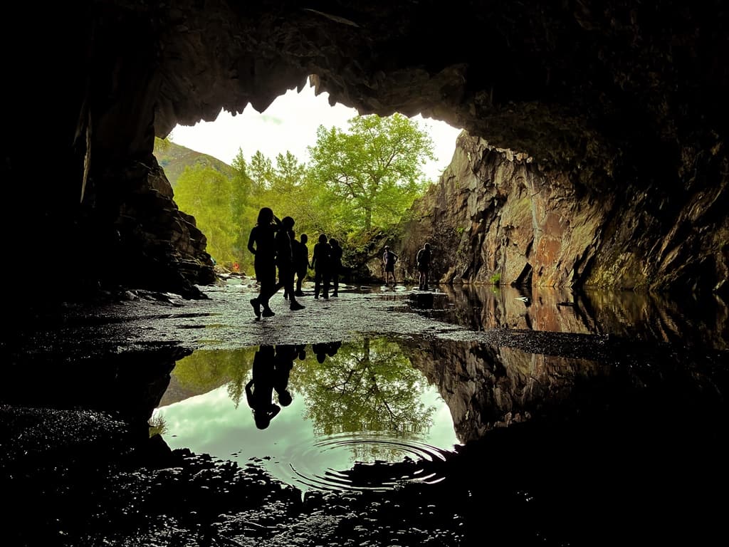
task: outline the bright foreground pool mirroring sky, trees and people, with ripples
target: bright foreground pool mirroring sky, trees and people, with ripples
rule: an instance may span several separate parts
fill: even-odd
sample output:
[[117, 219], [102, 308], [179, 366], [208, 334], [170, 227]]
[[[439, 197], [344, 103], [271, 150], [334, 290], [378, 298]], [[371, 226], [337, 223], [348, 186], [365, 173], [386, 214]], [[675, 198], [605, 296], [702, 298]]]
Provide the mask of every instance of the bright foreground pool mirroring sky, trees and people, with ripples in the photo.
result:
[[[407, 348], [386, 338], [308, 348], [230, 352], [242, 358], [234, 376], [217, 362], [228, 363], [229, 356], [195, 352], [179, 362], [182, 374], [173, 372], [170, 391], [190, 394], [195, 385], [209, 385], [192, 371], [206, 380], [217, 371], [218, 387], [179, 400], [165, 395], [152, 419], [164, 424], [165, 441], [173, 449], [232, 456], [241, 464], [252, 460], [303, 491], [389, 489], [402, 482], [440, 480], [426, 466], [444, 461], [459, 441], [448, 408], [410, 364]], [[253, 417], [238, 409], [243, 379], [251, 392], [249, 406], [256, 410]], [[284, 390], [291, 397], [282, 410]], [[376, 481], [353, 474], [380, 462], [408, 462], [409, 467], [381, 473]]]

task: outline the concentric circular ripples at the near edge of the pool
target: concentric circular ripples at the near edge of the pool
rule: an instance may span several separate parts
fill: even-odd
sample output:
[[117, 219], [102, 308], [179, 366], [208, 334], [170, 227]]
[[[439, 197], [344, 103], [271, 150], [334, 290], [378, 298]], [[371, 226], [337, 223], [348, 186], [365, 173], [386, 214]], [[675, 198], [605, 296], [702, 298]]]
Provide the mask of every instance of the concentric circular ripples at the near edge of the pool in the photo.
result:
[[347, 432], [289, 447], [270, 472], [303, 491], [383, 491], [442, 481], [443, 462], [452, 455], [411, 438]]

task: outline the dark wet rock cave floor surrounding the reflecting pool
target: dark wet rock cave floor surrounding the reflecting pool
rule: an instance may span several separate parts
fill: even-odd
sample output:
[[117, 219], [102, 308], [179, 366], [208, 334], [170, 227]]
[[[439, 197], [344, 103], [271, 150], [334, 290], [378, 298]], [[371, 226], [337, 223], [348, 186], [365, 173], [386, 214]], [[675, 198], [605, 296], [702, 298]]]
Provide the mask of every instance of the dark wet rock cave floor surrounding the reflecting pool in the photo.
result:
[[[656, 376], [670, 379], [688, 358], [676, 346], [609, 335], [469, 330], [439, 319], [437, 305], [418, 306], [409, 291], [380, 287], [303, 298], [301, 311], [289, 311], [279, 294], [276, 317], [257, 321], [248, 303], [254, 292], [249, 280], [236, 279], [206, 287], [203, 300], [129, 292], [17, 319], [2, 342], [8, 381], [0, 390], [0, 487], [11, 500], [1, 513], [4, 544], [608, 545], [628, 533], [646, 543], [701, 543], [716, 532], [723, 509], [709, 494], [725, 491], [727, 455], [717, 427], [726, 410], [714, 403], [727, 384], [720, 351], [684, 362], [689, 376], [712, 380], [712, 387], [701, 383], [712, 413], [673, 397], [668, 427], [653, 421], [652, 397], [569, 420], [555, 408], [432, 462], [445, 469], [445, 480], [389, 492], [302, 496], [255, 461], [239, 467], [149, 438], [146, 420], [163, 392], [155, 382], [200, 347], [311, 344], [359, 333], [413, 344], [469, 340], [631, 367], [646, 391], [653, 378], [646, 371], [660, 365]], [[353, 473], [366, 481], [382, 467]]]

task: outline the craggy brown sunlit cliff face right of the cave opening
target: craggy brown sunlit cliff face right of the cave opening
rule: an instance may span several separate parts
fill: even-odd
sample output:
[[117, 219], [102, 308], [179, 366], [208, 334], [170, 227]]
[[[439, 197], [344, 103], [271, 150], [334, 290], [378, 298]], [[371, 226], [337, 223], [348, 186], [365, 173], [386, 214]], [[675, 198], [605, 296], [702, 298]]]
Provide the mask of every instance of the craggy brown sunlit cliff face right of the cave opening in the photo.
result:
[[[679, 195], [620, 195], [547, 172], [526, 154], [461, 133], [453, 161], [413, 206], [401, 255], [434, 246], [434, 279], [547, 287], [725, 290], [726, 177]], [[410, 260], [414, 260], [410, 258]]]

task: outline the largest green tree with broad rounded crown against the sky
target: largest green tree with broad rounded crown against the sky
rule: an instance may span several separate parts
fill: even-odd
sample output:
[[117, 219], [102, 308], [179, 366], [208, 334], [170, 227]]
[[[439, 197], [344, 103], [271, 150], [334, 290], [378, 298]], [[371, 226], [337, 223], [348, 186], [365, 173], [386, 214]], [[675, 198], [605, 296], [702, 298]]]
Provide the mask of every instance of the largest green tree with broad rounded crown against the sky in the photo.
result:
[[397, 222], [424, 192], [422, 166], [434, 159], [433, 142], [403, 115], [358, 116], [347, 132], [319, 126], [308, 147], [310, 178], [324, 192], [316, 205], [350, 231]]

